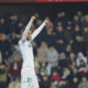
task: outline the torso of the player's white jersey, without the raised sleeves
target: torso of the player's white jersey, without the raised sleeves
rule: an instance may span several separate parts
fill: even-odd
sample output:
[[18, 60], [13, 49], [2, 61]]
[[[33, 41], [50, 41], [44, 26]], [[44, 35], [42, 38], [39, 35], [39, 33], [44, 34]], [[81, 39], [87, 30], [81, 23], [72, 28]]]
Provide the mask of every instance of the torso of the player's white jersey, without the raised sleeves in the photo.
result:
[[33, 48], [31, 41], [22, 42], [22, 40], [19, 42], [22, 58], [23, 58], [23, 65], [22, 67], [34, 67], [34, 57], [33, 57]]

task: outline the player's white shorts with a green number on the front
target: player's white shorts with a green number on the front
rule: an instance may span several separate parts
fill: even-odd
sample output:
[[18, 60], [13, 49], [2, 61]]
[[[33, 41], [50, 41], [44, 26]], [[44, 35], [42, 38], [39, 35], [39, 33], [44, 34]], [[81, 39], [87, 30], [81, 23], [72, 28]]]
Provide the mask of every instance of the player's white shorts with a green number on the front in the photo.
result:
[[40, 88], [33, 67], [21, 70], [21, 88]]

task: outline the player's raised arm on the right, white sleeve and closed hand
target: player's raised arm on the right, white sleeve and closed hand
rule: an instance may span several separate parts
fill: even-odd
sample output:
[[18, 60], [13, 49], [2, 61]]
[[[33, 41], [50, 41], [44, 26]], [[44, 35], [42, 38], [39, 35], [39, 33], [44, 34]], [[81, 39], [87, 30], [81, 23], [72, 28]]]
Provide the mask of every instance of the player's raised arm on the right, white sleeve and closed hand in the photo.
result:
[[44, 26], [48, 23], [48, 20], [45, 20], [32, 34], [32, 40], [34, 40], [40, 33], [41, 31], [44, 29]]

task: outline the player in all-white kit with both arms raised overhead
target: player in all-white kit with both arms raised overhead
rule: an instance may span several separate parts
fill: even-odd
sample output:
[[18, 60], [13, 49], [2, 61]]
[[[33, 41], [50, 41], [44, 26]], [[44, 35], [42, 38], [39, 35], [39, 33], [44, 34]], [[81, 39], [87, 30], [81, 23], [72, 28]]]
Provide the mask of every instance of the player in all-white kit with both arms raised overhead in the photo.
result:
[[43, 28], [48, 23], [46, 19], [33, 33], [30, 31], [35, 16], [25, 26], [22, 38], [19, 41], [20, 51], [23, 58], [21, 69], [21, 88], [40, 88], [34, 70], [34, 56], [31, 42], [38, 35]]

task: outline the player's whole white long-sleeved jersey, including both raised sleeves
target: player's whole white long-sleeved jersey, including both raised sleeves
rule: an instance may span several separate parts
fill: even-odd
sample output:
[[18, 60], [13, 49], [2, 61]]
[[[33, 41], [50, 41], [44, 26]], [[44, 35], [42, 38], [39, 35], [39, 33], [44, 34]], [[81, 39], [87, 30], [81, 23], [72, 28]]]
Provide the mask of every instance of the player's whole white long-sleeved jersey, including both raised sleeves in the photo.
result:
[[42, 31], [42, 29], [45, 26], [45, 21], [42, 23], [42, 25], [34, 31], [34, 33], [31, 36], [30, 41], [26, 41], [29, 30], [32, 25], [33, 20], [31, 20], [24, 31], [24, 34], [22, 38], [19, 41], [20, 51], [23, 58], [23, 66], [22, 67], [34, 67], [34, 57], [33, 57], [33, 47], [31, 42], [36, 37], [36, 35]]

